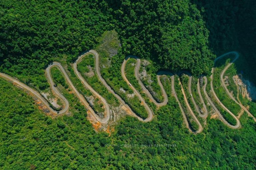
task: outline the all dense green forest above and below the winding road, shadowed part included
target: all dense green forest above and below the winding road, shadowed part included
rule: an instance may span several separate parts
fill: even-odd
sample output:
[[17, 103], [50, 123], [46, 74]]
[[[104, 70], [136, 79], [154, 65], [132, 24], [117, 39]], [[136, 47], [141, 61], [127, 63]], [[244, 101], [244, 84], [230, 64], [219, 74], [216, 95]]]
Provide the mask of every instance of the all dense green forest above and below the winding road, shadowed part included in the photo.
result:
[[[215, 54], [237, 50], [246, 60], [233, 69], [256, 84], [255, 15], [253, 0], [0, 1], [0, 72], [44, 90], [49, 87], [44, 69], [59, 61], [65, 63], [71, 81], [83, 91], [70, 63], [81, 52], [94, 48], [103, 62], [107, 61], [99, 44], [105, 31], [115, 30], [120, 49], [112, 56], [112, 66], [101, 70], [115, 91], [119, 87], [129, 91], [120, 66], [130, 54], [149, 59], [155, 65], [152, 68], [209, 75]], [[84, 62], [94, 67], [92, 58]], [[136, 86], [132, 63], [127, 63], [126, 71]], [[84, 63], [80, 64], [82, 67]], [[86, 72], [81, 67], [79, 71]], [[86, 109], [69, 93], [59, 71], [53, 69], [52, 73], [70, 102], [72, 116], [52, 119], [38, 109], [31, 96], [0, 78], [0, 169], [256, 169], [255, 122], [243, 114], [242, 127], [231, 129], [208, 116], [201, 133], [190, 133], [167, 76], [161, 82], [169, 102], [155, 111], [151, 122], [126, 116], [108, 134], [94, 130]], [[118, 105], [96, 76], [84, 77], [108, 102]], [[186, 81], [182, 80], [184, 85]], [[177, 77], [175, 85], [179, 86]], [[89, 95], [87, 90], [83, 93]], [[138, 101], [131, 104], [136, 106]], [[151, 108], [155, 110], [155, 106]], [[235, 123], [219, 109], [228, 122]], [[144, 111], [141, 114], [147, 116]], [[196, 129], [191, 121], [190, 126]]]

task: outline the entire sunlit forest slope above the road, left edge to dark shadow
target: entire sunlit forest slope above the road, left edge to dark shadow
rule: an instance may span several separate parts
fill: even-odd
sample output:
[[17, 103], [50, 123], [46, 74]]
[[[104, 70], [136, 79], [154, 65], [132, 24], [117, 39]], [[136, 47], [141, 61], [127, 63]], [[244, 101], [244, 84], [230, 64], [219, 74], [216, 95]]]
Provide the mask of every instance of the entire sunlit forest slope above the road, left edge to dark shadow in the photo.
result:
[[63, 54], [71, 62], [110, 29], [117, 30], [125, 55], [150, 57], [163, 68], [195, 74], [208, 73], [212, 66], [209, 32], [188, 1], [7, 0], [0, 9], [0, 63], [9, 74], [36, 77]]

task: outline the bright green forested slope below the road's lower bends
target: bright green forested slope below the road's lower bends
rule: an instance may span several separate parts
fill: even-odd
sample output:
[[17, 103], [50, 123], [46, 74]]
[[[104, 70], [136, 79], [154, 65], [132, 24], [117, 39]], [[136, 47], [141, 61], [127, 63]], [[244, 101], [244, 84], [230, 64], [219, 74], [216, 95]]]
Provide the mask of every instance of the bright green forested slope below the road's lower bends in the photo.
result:
[[1, 169], [255, 169], [256, 124], [246, 114], [241, 129], [208, 119], [195, 135], [168, 91], [157, 119], [126, 117], [109, 136], [93, 130], [83, 106], [73, 117], [52, 119], [26, 93], [2, 78], [0, 84]]

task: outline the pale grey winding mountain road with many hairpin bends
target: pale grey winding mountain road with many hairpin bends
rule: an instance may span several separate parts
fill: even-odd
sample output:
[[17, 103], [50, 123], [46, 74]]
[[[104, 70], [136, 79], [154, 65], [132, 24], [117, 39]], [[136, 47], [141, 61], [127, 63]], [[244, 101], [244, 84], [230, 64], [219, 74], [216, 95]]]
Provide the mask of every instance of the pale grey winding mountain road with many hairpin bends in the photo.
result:
[[[123, 63], [122, 63], [122, 66], [121, 66], [121, 75], [123, 77], [123, 79], [126, 81], [127, 84], [130, 84], [130, 87], [131, 89], [134, 91], [134, 93], [138, 96], [138, 98], [141, 100], [143, 106], [145, 107], [145, 109], [147, 110], [148, 112], [148, 117], [146, 119], [142, 119], [140, 118], [139, 116], [137, 116], [133, 110], [129, 107], [128, 104], [125, 103], [125, 101], [117, 94], [115, 93], [115, 91], [107, 84], [107, 82], [103, 79], [103, 77], [101, 76], [101, 73], [100, 73], [100, 66], [99, 66], [99, 54], [95, 51], [95, 50], [89, 50], [89, 51], [86, 51], [84, 54], [82, 54], [81, 56], [78, 57], [78, 59], [73, 63], [73, 69], [74, 69], [74, 72], [76, 74], [76, 76], [80, 79], [80, 81], [84, 84], [84, 86], [90, 90], [94, 96], [96, 96], [97, 98], [100, 99], [100, 101], [104, 104], [104, 107], [105, 107], [105, 112], [106, 112], [106, 116], [104, 118], [100, 118], [95, 112], [94, 110], [90, 107], [90, 105], [88, 104], [88, 102], [85, 100], [85, 98], [77, 91], [77, 89], [74, 87], [74, 85], [72, 84], [71, 80], [69, 79], [67, 73], [65, 72], [64, 68], [62, 67], [62, 65], [58, 62], [53, 62], [52, 64], [50, 64], [47, 68], [46, 68], [46, 75], [47, 75], [47, 79], [49, 81], [49, 84], [51, 86], [51, 89], [52, 91], [57, 95], [59, 96], [59, 98], [61, 100], [63, 100], [64, 102], [64, 108], [57, 112], [55, 110], [53, 110], [48, 101], [46, 99], [44, 99], [44, 97], [41, 96], [40, 93], [38, 93], [37, 91], [35, 91], [34, 89], [30, 88], [29, 86], [25, 85], [24, 83], [16, 80], [15, 78], [13, 77], [10, 77], [4, 73], [0, 73], [0, 76], [13, 82], [14, 84], [22, 87], [23, 89], [26, 89], [27, 91], [29, 91], [33, 96], [35, 96], [38, 100], [40, 100], [48, 109], [50, 112], [52, 112], [53, 114], [55, 115], [62, 115], [62, 114], [65, 114], [68, 112], [69, 110], [69, 102], [67, 101], [67, 99], [60, 93], [60, 91], [58, 90], [58, 88], [54, 87], [54, 82], [53, 82], [53, 79], [52, 79], [52, 76], [51, 76], [51, 68], [52, 67], [58, 67], [58, 69], [62, 72], [62, 74], [64, 75], [66, 81], [68, 82], [69, 84], [69, 87], [74, 91], [75, 95], [79, 98], [79, 100], [82, 102], [82, 104], [88, 109], [89, 112], [91, 112], [93, 114], [93, 116], [96, 118], [96, 120], [102, 124], [107, 124], [109, 119], [110, 119], [110, 114], [112, 113], [111, 110], [110, 110], [110, 107], [107, 103], [107, 101], [100, 95], [98, 94], [87, 82], [86, 80], [83, 78], [83, 76], [81, 75], [81, 73], [77, 70], [77, 65], [79, 64], [79, 62], [82, 60], [82, 58], [87, 55], [87, 54], [93, 54], [95, 56], [95, 71], [96, 71], [96, 74], [99, 78], [99, 80], [101, 81], [101, 83], [109, 90], [110, 93], [112, 93], [119, 101], [120, 103], [127, 109], [127, 111], [129, 111], [134, 117], [137, 117], [138, 120], [140, 121], [143, 121], [143, 122], [149, 122], [152, 120], [153, 118], [153, 111], [151, 110], [151, 108], [147, 105], [147, 103], [145, 102], [145, 100], [143, 99], [143, 97], [140, 95], [140, 93], [133, 87], [132, 84], [130, 84], [129, 80], [126, 78], [126, 75], [125, 75], [125, 65], [126, 65], [126, 62], [128, 61], [128, 59], [130, 58], [134, 58], [136, 59], [136, 67], [135, 67], [135, 77], [136, 79], [138, 80], [138, 83], [140, 84], [140, 86], [142, 87], [143, 91], [146, 93], [146, 95], [151, 99], [151, 101], [153, 101], [153, 103], [158, 106], [158, 107], [161, 107], [161, 106], [165, 106], [167, 103], [168, 103], [168, 96], [164, 90], [164, 87], [160, 81], [160, 77], [163, 76], [163, 75], [169, 75], [171, 76], [171, 88], [172, 88], [172, 93], [176, 99], [176, 101], [178, 102], [178, 105], [179, 105], [179, 108], [181, 110], [181, 113], [182, 113], [182, 116], [183, 116], [183, 119], [184, 119], [184, 122], [185, 122], [185, 125], [186, 127], [189, 129], [189, 131], [191, 132], [194, 132], [194, 133], [200, 133], [202, 130], [203, 130], [203, 127], [201, 126], [200, 122], [198, 121], [197, 117], [195, 116], [195, 114], [193, 113], [189, 103], [188, 103], [188, 100], [187, 100], [187, 97], [186, 97], [186, 94], [185, 94], [185, 91], [184, 91], [184, 88], [181, 84], [181, 90], [182, 90], [182, 94], [183, 94], [183, 97], [184, 97], [184, 100], [185, 100], [185, 103], [187, 105], [187, 108], [188, 108], [188, 111], [190, 112], [190, 114], [192, 115], [193, 119], [196, 121], [196, 123], [199, 125], [199, 128], [197, 131], [194, 131], [190, 128], [189, 126], [189, 123], [188, 123], [188, 120], [187, 120], [187, 117], [186, 117], [186, 114], [181, 106], [181, 103], [177, 97], [177, 94], [175, 92], [175, 88], [174, 88], [174, 74], [169, 72], [169, 71], [159, 71], [157, 73], [157, 81], [158, 81], [158, 84], [162, 90], [162, 94], [163, 94], [163, 97], [164, 97], [164, 100], [163, 102], [161, 103], [158, 103], [154, 97], [151, 95], [151, 93], [148, 91], [148, 89], [144, 86], [144, 84], [141, 82], [140, 78], [139, 78], [139, 69], [140, 69], [140, 58], [137, 57], [137, 56], [133, 56], [133, 55], [130, 55], [130, 56], [127, 56], [125, 57]], [[214, 64], [216, 63], [216, 61], [228, 54], [235, 54], [236, 57], [232, 60], [231, 63], [229, 63], [221, 72], [221, 75], [220, 75], [220, 80], [221, 80], [221, 84], [222, 86], [224, 87], [226, 93], [229, 95], [229, 97], [234, 101], [236, 102], [243, 110], [245, 110], [249, 116], [253, 117], [252, 114], [241, 104], [241, 102], [238, 102], [236, 101], [236, 99], [233, 97], [233, 95], [228, 91], [225, 83], [224, 83], [224, 80], [223, 80], [223, 75], [224, 73], [226, 72], [226, 70], [230, 67], [230, 65], [235, 62], [235, 60], [239, 57], [239, 54], [235, 51], [231, 51], [231, 52], [228, 52], [228, 53], [225, 53], [219, 57], [217, 57], [215, 60], [214, 60]], [[213, 97], [215, 98], [215, 100], [220, 104], [220, 106], [225, 109], [232, 117], [234, 117], [234, 119], [236, 120], [236, 125], [230, 125], [224, 118], [223, 116], [221, 115], [221, 113], [219, 112], [219, 110], [216, 108], [216, 106], [214, 105], [214, 103], [212, 102], [211, 98], [208, 96], [207, 94], [207, 91], [206, 91], [206, 85], [207, 85], [207, 78], [205, 76], [203, 76], [204, 78], [204, 85], [203, 85], [203, 92], [206, 96], [206, 99], [208, 100], [208, 102], [210, 103], [210, 105], [213, 107], [213, 109], [215, 110], [215, 112], [219, 115], [220, 119], [227, 125], [229, 126], [230, 128], [240, 128], [241, 124], [240, 124], [240, 121], [239, 119], [232, 113], [230, 112], [221, 102], [220, 100], [218, 99], [218, 97], [216, 96], [215, 92], [214, 92], [214, 89], [213, 89], [213, 73], [214, 73], [214, 68], [212, 68], [212, 71], [211, 71], [212, 75], [211, 75], [211, 83], [210, 83], [210, 86], [211, 86], [211, 91], [213, 93]], [[193, 95], [192, 95], [192, 92], [191, 92], [191, 82], [192, 82], [192, 76], [190, 73], [187, 73], [186, 74], [189, 76], [189, 83], [188, 83], [188, 90], [189, 90], [189, 94], [191, 94], [191, 99], [192, 99], [192, 102], [193, 102], [193, 105], [195, 106], [196, 108], [196, 112], [198, 112], [199, 116], [200, 117], [203, 117], [203, 118], [206, 118], [207, 115], [208, 115], [208, 111], [207, 111], [207, 108], [206, 108], [206, 105], [204, 103], [204, 100], [203, 100], [203, 97], [202, 97], [202, 94], [201, 94], [201, 89], [200, 89], [200, 84], [199, 84], [199, 80], [197, 82], [197, 91], [198, 91], [198, 95], [199, 95], [199, 98], [200, 98], [200, 101], [201, 103], [203, 104], [203, 108], [204, 108], [204, 114], [202, 114], [200, 112], [200, 109], [199, 107], [197, 106], [194, 98], [193, 98]], [[256, 122], [256, 119], [253, 117], [254, 121]]]

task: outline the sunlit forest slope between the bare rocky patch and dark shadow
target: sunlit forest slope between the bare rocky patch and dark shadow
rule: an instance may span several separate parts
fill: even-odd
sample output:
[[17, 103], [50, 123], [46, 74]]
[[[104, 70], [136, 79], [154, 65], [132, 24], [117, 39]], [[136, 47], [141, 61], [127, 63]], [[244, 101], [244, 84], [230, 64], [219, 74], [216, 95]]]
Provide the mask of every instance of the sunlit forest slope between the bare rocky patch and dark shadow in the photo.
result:
[[127, 54], [151, 58], [162, 68], [209, 73], [215, 57], [209, 31], [195, 5], [185, 1], [110, 1], [116, 31]]

